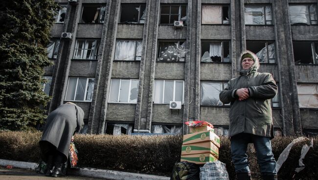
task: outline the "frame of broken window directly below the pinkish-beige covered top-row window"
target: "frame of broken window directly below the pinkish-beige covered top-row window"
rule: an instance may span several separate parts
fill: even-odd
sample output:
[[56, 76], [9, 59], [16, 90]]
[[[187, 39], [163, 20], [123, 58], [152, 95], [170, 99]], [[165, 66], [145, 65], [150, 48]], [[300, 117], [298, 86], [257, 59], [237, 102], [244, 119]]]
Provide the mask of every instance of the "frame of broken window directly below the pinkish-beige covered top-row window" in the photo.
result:
[[[204, 55], [203, 51], [202, 51], [202, 47], [203, 47], [203, 43], [221, 43], [221, 62], [213, 62], [211, 60], [211, 62], [204, 62], [202, 61], [202, 57]], [[224, 43], [228, 43], [228, 53], [229, 53], [229, 59], [228, 59], [228, 62], [224, 62]], [[201, 40], [201, 49], [200, 49], [200, 63], [218, 63], [218, 64], [231, 64], [232, 63], [232, 60], [231, 60], [231, 40]]]

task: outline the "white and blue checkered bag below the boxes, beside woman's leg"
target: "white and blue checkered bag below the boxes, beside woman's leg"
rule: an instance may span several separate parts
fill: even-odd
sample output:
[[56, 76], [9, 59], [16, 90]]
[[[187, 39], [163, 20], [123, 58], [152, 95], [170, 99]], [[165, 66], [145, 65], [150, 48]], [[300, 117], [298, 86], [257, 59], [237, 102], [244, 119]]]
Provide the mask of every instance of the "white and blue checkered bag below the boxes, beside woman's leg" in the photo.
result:
[[200, 180], [229, 180], [225, 163], [217, 160], [200, 167]]

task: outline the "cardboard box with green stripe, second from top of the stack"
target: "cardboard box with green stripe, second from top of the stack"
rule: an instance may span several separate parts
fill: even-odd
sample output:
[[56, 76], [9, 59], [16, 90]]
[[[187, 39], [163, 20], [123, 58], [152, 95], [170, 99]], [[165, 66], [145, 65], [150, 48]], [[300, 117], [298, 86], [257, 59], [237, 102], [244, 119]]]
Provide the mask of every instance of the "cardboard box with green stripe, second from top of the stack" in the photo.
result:
[[218, 148], [220, 148], [220, 137], [214, 134], [211, 130], [183, 135], [182, 145], [206, 141], [212, 141]]

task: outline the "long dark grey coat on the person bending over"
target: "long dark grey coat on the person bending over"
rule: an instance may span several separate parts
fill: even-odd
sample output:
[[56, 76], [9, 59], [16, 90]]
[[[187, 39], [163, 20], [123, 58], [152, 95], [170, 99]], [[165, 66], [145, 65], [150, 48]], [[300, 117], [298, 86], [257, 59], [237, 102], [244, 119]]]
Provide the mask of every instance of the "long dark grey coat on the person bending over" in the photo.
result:
[[59, 106], [47, 116], [43, 135], [39, 142], [44, 160], [46, 154], [52, 151], [52, 148], [68, 158], [72, 135], [83, 128], [83, 118], [84, 111], [82, 108], [68, 103]]

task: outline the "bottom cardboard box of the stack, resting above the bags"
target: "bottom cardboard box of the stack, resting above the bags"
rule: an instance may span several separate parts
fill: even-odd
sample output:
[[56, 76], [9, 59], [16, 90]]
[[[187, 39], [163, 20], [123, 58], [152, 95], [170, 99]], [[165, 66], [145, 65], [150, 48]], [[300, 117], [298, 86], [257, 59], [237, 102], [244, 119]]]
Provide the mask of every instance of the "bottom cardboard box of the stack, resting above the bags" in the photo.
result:
[[206, 162], [213, 162], [218, 160], [211, 153], [181, 155], [181, 161], [193, 162], [196, 164], [205, 164]]

